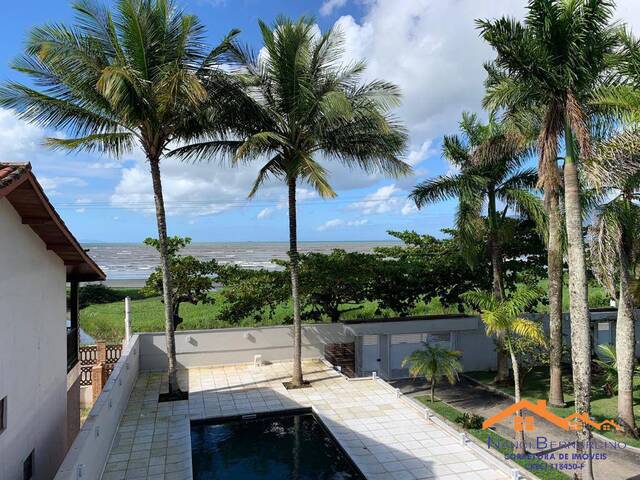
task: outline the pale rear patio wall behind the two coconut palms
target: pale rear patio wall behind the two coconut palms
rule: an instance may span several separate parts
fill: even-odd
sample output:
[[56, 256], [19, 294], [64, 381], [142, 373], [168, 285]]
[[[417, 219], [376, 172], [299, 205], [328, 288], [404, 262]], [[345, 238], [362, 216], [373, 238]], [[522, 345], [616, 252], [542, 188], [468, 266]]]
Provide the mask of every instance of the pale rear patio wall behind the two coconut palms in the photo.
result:
[[[166, 369], [167, 355], [164, 333], [141, 333], [140, 369]], [[302, 327], [303, 358], [324, 355], [327, 343], [352, 342], [342, 324], [304, 325]], [[291, 326], [262, 328], [226, 328], [176, 332], [176, 354], [180, 367], [198, 367], [253, 362], [254, 355], [262, 360], [278, 362], [293, 356]]]

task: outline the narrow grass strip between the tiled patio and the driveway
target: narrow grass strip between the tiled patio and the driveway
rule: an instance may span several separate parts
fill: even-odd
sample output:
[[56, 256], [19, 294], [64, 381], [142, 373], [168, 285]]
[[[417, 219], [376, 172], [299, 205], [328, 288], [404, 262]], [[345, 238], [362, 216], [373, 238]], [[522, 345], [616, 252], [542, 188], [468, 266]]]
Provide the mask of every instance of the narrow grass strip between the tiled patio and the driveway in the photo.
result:
[[[431, 403], [427, 396], [417, 397], [416, 399], [433, 410], [434, 413], [446, 418], [450, 422], [455, 422], [456, 418], [462, 415], [460, 410], [440, 400], [436, 400]], [[513, 452], [513, 443], [495, 432], [476, 429], [467, 430], [467, 432], [485, 444], [487, 443], [489, 436], [491, 436], [494, 440], [493, 445], [495, 446], [496, 444], [499, 444], [500, 448], [498, 450], [505, 456], [510, 455]], [[514, 461], [521, 467], [533, 473], [536, 477], [543, 480], [568, 480], [571, 478], [558, 470], [550, 468], [545, 462], [538, 458], [523, 458], [515, 459]]]

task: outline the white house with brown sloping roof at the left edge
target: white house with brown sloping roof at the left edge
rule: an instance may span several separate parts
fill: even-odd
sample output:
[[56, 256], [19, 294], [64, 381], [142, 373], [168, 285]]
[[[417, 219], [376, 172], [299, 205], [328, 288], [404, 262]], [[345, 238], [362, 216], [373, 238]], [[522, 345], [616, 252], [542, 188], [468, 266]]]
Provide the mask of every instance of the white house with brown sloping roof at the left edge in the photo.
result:
[[78, 284], [104, 278], [31, 166], [0, 163], [0, 479], [53, 478], [77, 435]]

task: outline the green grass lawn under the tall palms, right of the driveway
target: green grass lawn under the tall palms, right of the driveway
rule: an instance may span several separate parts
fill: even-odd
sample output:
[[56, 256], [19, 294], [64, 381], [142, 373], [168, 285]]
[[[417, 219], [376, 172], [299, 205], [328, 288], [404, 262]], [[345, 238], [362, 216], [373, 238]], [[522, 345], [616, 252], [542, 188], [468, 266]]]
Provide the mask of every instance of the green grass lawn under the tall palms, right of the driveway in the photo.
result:
[[[478, 380], [479, 382], [489, 384], [493, 380], [494, 372], [468, 372], [466, 375]], [[618, 397], [608, 397], [600, 388], [601, 379], [594, 375], [593, 389], [591, 391], [591, 416], [602, 421], [607, 418], [615, 418], [618, 408]], [[514, 395], [513, 386], [493, 385], [509, 395]], [[573, 383], [569, 373], [563, 376], [563, 390], [565, 392], [566, 407], [556, 408], [549, 407], [556, 415], [566, 417], [573, 413]], [[549, 370], [547, 368], [539, 368], [528, 375], [524, 382], [522, 396], [529, 400], [545, 399], [549, 396]], [[636, 376], [634, 380], [634, 400], [636, 422], [640, 422], [640, 377]], [[640, 440], [631, 437], [621, 437], [615, 432], [599, 432], [606, 437], [616, 440], [624, 440], [627, 444], [640, 447]]]

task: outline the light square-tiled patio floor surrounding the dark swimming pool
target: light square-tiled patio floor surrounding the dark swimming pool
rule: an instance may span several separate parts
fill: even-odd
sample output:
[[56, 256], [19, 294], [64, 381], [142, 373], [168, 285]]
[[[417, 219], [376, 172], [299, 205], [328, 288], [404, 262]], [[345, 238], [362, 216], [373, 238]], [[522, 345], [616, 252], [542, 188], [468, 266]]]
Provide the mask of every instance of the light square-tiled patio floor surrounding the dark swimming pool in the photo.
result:
[[[192, 477], [189, 420], [313, 407], [370, 480], [506, 479], [460, 439], [373, 380], [347, 381], [305, 362], [312, 387], [286, 390], [290, 364], [233, 365], [181, 372], [189, 401], [158, 404], [162, 375], [141, 373], [102, 480]], [[259, 439], [256, 439], [259, 441]]]

